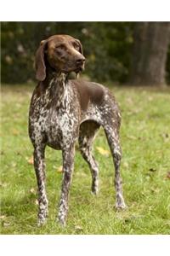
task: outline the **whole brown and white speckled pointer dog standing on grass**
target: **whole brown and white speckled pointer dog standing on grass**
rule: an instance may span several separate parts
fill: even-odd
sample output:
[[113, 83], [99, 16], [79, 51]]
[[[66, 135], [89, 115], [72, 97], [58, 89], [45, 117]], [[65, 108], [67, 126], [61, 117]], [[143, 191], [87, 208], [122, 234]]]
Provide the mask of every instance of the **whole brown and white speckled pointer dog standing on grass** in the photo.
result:
[[71, 72], [80, 73], [85, 57], [79, 40], [54, 35], [43, 40], [36, 53], [36, 89], [31, 97], [29, 135], [34, 146], [34, 166], [39, 194], [38, 224], [48, 216], [45, 189], [44, 151], [46, 145], [62, 150], [63, 181], [59, 202], [59, 222], [65, 225], [68, 195], [74, 167], [75, 143], [92, 173], [92, 192], [97, 194], [99, 168], [92, 154], [96, 131], [103, 126], [115, 165], [116, 208], [125, 208], [120, 177], [121, 114], [114, 96], [101, 84], [69, 80]]

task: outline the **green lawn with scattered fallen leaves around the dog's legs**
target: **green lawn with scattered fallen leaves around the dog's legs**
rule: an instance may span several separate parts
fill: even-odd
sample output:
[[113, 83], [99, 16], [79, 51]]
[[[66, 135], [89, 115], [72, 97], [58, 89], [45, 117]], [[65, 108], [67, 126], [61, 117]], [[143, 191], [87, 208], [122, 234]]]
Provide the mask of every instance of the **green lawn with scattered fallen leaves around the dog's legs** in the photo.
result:
[[100, 191], [77, 150], [67, 226], [55, 222], [61, 153], [47, 148], [48, 223], [37, 227], [37, 182], [27, 134], [32, 86], [2, 87], [1, 234], [170, 234], [170, 90], [114, 88], [122, 109], [122, 178], [127, 210], [114, 209], [111, 154], [102, 129], [94, 143]]

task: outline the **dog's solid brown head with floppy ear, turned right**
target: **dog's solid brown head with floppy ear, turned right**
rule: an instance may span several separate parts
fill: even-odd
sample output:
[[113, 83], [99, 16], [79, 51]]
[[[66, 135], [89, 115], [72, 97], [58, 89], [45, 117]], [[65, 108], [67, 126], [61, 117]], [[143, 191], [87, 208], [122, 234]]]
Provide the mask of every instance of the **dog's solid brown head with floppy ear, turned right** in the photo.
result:
[[55, 35], [42, 40], [36, 53], [36, 78], [46, 78], [46, 66], [57, 73], [79, 73], [83, 70], [85, 57], [79, 40], [68, 35]]

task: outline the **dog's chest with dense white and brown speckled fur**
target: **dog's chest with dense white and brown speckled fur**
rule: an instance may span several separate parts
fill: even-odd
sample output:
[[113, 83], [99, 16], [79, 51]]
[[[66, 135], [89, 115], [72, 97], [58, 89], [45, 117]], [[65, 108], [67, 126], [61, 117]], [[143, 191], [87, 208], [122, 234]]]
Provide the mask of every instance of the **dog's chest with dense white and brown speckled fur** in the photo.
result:
[[46, 135], [48, 145], [63, 148], [77, 137], [80, 122], [77, 96], [69, 84], [52, 81], [42, 96], [33, 98], [34, 130]]

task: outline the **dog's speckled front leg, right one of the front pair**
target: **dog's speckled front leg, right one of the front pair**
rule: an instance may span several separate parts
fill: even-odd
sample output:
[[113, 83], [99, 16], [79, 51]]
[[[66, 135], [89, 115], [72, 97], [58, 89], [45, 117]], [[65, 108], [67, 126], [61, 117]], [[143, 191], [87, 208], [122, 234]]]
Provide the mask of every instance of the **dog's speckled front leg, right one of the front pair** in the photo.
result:
[[71, 185], [71, 176], [74, 168], [75, 147], [71, 145], [65, 148], [63, 154], [63, 181], [59, 202], [59, 223], [65, 225], [68, 212], [68, 196]]

